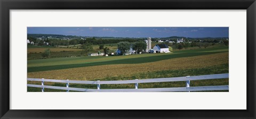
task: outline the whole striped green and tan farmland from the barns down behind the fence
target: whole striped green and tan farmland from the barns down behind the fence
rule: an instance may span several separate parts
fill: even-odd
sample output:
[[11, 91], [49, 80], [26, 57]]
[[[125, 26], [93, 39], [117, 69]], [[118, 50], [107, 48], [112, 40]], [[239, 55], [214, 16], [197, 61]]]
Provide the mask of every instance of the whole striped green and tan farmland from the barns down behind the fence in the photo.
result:
[[[94, 46], [96, 47], [96, 46]], [[115, 46], [113, 46], [115, 47]], [[185, 77], [228, 73], [228, 46], [175, 50], [166, 54], [125, 56], [82, 56], [28, 60], [28, 78], [60, 80], [132, 80], [165, 77]], [[191, 81], [191, 86], [226, 85], [225, 80]], [[41, 82], [29, 81], [29, 84]], [[64, 83], [47, 82], [50, 86]], [[97, 88], [90, 84], [70, 84], [70, 87]], [[185, 82], [142, 83], [139, 88], [185, 87]], [[101, 89], [134, 88], [134, 84], [103, 84]], [[28, 87], [28, 91], [41, 91]], [[65, 91], [46, 89], [45, 91]]]

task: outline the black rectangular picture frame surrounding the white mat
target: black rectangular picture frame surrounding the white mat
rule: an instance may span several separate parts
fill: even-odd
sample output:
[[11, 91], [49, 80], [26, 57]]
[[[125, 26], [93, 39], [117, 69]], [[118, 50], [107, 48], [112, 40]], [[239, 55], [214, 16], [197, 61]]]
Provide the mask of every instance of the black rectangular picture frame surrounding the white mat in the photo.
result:
[[[0, 117], [1, 118], [256, 118], [255, 114], [255, 0], [0, 0]], [[13, 110], [10, 109], [10, 10], [70, 9], [197, 9], [247, 10], [246, 110]], [[22, 103], [22, 102], [21, 102]], [[236, 104], [234, 104], [236, 105]]]

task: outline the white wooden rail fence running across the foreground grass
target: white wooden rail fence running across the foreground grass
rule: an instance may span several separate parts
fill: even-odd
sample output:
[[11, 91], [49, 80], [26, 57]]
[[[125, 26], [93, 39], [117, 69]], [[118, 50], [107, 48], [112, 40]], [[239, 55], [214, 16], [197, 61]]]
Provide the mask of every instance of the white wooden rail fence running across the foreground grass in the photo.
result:
[[[28, 81], [41, 81], [41, 85], [27, 84], [27, 87], [37, 87], [60, 90], [74, 90], [74, 91], [85, 91], [85, 92], [169, 92], [169, 91], [207, 91], [207, 90], [229, 90], [229, 86], [201, 86], [201, 87], [190, 87], [190, 81], [194, 80], [210, 80], [210, 79], [225, 79], [229, 78], [228, 73], [224, 74], [211, 74], [211, 75], [197, 75], [187, 77], [175, 77], [175, 78], [156, 78], [156, 79], [135, 79], [135, 80], [119, 80], [119, 81], [77, 81], [77, 80], [55, 80], [55, 79], [33, 79], [27, 78]], [[186, 81], [186, 87], [177, 88], [142, 88], [139, 89], [139, 83], [153, 83], [153, 82], [173, 82], [173, 81]], [[59, 82], [66, 83], [66, 87], [57, 86], [45, 86], [44, 82]], [[97, 89], [83, 89], [83, 88], [71, 88], [69, 83], [79, 84], [95, 84]], [[100, 89], [100, 84], [129, 84], [134, 83], [134, 89]]]

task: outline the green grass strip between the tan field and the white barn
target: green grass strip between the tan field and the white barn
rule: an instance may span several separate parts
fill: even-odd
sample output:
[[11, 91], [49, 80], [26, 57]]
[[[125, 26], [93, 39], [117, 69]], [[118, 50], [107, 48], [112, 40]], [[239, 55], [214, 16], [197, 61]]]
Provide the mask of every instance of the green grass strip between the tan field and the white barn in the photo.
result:
[[61, 70], [74, 67], [109, 65], [109, 64], [139, 64], [168, 60], [171, 58], [191, 57], [227, 52], [226, 47], [214, 47], [195, 50], [181, 50], [171, 54], [137, 54], [125, 56], [85, 56], [67, 58], [49, 58], [41, 60], [28, 60], [28, 72]]

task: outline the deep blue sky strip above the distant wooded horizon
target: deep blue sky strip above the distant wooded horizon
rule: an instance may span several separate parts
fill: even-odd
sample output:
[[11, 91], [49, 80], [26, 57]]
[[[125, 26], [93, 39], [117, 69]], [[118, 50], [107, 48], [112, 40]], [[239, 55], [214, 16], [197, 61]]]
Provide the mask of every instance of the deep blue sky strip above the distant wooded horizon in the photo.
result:
[[228, 37], [228, 27], [28, 27], [28, 33], [95, 37]]

